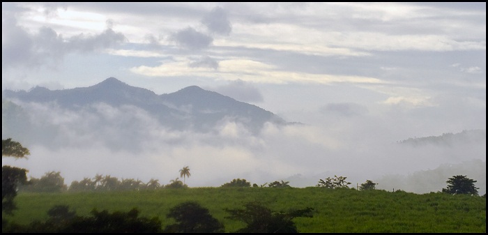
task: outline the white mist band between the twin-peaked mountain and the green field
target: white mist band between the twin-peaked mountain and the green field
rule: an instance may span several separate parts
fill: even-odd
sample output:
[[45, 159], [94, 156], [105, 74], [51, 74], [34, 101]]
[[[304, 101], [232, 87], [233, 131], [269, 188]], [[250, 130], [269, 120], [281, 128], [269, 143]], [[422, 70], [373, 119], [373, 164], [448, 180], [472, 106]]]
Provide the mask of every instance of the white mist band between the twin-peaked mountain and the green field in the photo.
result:
[[[68, 186], [96, 174], [164, 185], [188, 166], [189, 187], [218, 187], [239, 178], [258, 185], [284, 180], [302, 188], [337, 175], [346, 176], [351, 187], [372, 180], [379, 189], [427, 193], [462, 174], [478, 181], [480, 195], [486, 193], [486, 135], [450, 145], [399, 144], [392, 124], [367, 116], [358, 105], [327, 107], [354, 114], [343, 125], [266, 123], [258, 134], [231, 118], [209, 132], [172, 130], [130, 105], [98, 103], [77, 111], [54, 103], [22, 107], [36, 131], [29, 135], [44, 138], [14, 137], [31, 156], [3, 158], [2, 165], [26, 168], [35, 178], [61, 172]], [[2, 138], [8, 136], [2, 132]]]

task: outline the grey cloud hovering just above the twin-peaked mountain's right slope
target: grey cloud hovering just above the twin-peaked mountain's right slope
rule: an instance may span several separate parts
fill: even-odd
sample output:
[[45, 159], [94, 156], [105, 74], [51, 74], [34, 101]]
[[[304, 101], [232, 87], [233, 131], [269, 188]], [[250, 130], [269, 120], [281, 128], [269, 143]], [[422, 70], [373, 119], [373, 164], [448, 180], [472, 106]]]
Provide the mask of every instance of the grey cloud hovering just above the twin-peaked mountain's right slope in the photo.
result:
[[229, 96], [236, 100], [247, 103], [259, 103], [263, 101], [263, 95], [251, 82], [236, 79], [224, 86], [213, 89], [224, 96]]

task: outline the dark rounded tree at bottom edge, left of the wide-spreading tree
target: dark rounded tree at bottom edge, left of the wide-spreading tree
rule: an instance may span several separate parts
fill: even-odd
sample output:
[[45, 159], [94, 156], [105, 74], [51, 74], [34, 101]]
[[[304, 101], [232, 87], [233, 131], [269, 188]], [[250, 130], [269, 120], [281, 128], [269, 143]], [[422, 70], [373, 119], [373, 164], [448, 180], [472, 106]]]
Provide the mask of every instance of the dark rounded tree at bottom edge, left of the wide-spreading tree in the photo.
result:
[[168, 225], [164, 232], [211, 233], [224, 232], [224, 225], [202, 207], [198, 202], [183, 202], [169, 209], [168, 218], [176, 224]]

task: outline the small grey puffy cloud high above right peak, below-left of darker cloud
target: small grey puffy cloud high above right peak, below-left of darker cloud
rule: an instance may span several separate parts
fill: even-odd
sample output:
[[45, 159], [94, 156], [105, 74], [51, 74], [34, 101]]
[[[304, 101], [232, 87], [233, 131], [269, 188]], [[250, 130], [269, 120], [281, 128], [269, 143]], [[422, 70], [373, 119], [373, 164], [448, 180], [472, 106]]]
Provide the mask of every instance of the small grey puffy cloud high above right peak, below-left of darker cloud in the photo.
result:
[[200, 33], [192, 27], [174, 33], [172, 38], [178, 45], [189, 50], [205, 49], [210, 46], [213, 41], [211, 36], [208, 36], [205, 33]]

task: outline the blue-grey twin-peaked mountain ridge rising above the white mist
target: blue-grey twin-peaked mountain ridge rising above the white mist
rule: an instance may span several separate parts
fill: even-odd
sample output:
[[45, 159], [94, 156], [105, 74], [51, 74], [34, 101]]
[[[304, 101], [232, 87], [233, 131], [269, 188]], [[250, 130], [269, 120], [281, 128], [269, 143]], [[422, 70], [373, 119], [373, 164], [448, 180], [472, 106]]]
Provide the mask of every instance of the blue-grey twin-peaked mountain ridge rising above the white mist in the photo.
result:
[[[174, 130], [206, 132], [219, 121], [236, 121], [250, 132], [259, 132], [264, 123], [287, 123], [280, 116], [255, 105], [243, 103], [199, 86], [188, 86], [174, 93], [157, 95], [153, 91], [130, 86], [109, 77], [89, 87], [51, 91], [36, 87], [30, 91], [3, 91], [3, 98], [28, 103], [56, 103], [77, 110], [96, 103], [112, 107], [133, 105], [155, 116], [162, 125]], [[7, 120], [8, 122], [8, 120]], [[2, 126], [4, 121], [2, 121]], [[5, 123], [8, 125], [8, 123]], [[3, 133], [3, 132], [2, 132]]]

